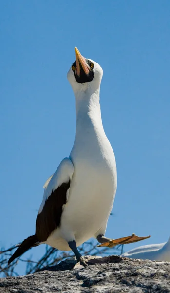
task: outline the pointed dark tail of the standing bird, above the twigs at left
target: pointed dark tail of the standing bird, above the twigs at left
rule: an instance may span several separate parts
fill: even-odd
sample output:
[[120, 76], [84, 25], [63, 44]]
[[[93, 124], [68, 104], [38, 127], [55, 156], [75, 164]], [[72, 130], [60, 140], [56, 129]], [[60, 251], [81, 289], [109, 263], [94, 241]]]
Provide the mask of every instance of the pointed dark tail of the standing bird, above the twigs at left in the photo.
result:
[[10, 257], [10, 259], [8, 260], [8, 265], [17, 257], [19, 257], [20, 255], [22, 255], [24, 252], [26, 252], [27, 250], [29, 250], [32, 246], [34, 246], [34, 244], [38, 242], [37, 236], [36, 235], [32, 235], [29, 236], [28, 238], [26, 238], [21, 245], [18, 247], [18, 249], [14, 252], [14, 254]]

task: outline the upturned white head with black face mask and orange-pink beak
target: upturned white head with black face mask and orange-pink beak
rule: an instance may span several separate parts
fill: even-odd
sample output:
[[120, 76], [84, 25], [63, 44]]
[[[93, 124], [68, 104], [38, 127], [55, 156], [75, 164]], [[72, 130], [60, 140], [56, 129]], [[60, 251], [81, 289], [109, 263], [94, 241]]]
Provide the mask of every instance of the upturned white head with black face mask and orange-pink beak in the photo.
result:
[[84, 58], [75, 47], [76, 60], [72, 64], [67, 78], [72, 85], [73, 91], [92, 91], [100, 87], [103, 76], [103, 69], [98, 63], [91, 59]]

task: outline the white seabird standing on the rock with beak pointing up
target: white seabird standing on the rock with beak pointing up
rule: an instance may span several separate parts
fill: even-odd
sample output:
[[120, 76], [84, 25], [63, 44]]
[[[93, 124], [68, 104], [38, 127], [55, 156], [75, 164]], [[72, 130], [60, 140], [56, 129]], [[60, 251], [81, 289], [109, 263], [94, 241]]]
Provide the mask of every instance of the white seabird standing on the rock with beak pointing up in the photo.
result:
[[104, 237], [117, 187], [112, 146], [104, 132], [100, 111], [100, 83], [103, 70], [75, 48], [76, 61], [67, 77], [76, 99], [76, 135], [68, 158], [44, 185], [36, 232], [25, 239], [9, 259], [39, 244], [58, 250], [72, 250], [86, 265], [77, 246]]

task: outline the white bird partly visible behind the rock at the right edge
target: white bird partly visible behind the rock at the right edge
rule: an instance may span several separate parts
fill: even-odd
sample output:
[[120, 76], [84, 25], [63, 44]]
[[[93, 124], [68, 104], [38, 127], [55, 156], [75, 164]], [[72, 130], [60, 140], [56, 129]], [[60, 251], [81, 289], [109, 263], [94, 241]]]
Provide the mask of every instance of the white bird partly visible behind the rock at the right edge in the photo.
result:
[[167, 242], [139, 246], [121, 256], [170, 262], [170, 237]]

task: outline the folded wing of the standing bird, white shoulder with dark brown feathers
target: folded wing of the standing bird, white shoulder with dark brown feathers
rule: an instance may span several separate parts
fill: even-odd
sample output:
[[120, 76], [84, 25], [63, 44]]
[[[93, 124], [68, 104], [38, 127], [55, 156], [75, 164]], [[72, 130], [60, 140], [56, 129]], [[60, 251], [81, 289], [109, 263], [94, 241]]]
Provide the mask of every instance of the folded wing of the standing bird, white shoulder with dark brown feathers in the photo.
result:
[[73, 172], [73, 163], [69, 158], [64, 158], [44, 185], [44, 195], [36, 219], [36, 236], [39, 242], [46, 241], [60, 224], [61, 214], [68, 200]]

